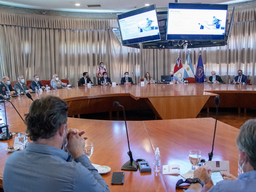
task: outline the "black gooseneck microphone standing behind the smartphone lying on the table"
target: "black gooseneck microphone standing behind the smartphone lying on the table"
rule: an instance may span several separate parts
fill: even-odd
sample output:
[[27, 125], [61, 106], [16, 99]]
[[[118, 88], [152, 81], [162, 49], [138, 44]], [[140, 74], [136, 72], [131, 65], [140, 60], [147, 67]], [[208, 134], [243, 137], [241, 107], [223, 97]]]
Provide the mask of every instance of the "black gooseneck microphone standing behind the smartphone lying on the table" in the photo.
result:
[[130, 160], [128, 162], [126, 162], [123, 166], [122, 166], [122, 170], [128, 170], [128, 171], [137, 171], [138, 170], [138, 165], [136, 164], [135, 160], [132, 158], [132, 152], [130, 150], [130, 143], [129, 143], [129, 137], [128, 137], [128, 130], [127, 130], [127, 125], [126, 125], [126, 116], [125, 116], [125, 111], [124, 111], [124, 106], [120, 105], [119, 102], [115, 101], [113, 103], [114, 106], [116, 107], [122, 107], [123, 109], [123, 113], [124, 113], [124, 122], [125, 122], [125, 127], [126, 127], [126, 135], [127, 135], [127, 140], [128, 140], [128, 148], [129, 151], [127, 152], [127, 154], [130, 157]]

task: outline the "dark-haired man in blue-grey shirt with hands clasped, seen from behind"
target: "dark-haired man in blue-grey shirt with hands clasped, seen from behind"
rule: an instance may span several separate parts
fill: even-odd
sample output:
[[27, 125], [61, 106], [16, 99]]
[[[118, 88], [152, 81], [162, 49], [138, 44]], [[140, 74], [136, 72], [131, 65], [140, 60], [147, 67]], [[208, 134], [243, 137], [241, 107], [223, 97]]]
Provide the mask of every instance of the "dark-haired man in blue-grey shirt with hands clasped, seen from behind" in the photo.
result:
[[24, 120], [32, 142], [6, 161], [5, 192], [109, 191], [84, 153], [85, 132], [67, 129], [67, 115], [68, 105], [58, 97], [45, 96], [32, 102]]

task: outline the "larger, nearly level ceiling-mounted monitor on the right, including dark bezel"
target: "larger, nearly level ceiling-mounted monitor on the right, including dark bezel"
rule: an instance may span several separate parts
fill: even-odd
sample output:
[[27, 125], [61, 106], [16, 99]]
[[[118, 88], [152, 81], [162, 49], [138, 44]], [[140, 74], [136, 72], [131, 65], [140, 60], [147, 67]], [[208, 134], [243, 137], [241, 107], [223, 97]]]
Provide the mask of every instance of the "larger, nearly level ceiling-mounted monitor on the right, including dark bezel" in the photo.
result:
[[224, 40], [228, 5], [169, 3], [167, 40]]

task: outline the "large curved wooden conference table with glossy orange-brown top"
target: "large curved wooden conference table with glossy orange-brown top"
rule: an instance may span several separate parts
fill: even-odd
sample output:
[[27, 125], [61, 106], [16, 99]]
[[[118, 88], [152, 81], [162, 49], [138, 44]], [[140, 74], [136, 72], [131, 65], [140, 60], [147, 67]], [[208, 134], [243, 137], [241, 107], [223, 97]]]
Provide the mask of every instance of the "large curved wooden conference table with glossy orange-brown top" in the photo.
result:
[[[240, 86], [240, 85], [239, 85]], [[246, 86], [246, 85], [245, 85]], [[120, 102], [126, 110], [151, 109], [162, 120], [128, 121], [130, 148], [134, 159], [143, 158], [153, 168], [154, 151], [160, 148], [161, 165], [179, 164], [180, 173], [191, 169], [188, 153], [191, 149], [202, 151], [202, 158], [208, 159], [212, 150], [215, 120], [195, 118], [203, 107], [212, 105], [212, 99], [219, 93], [225, 99], [226, 92], [234, 94], [255, 94], [254, 86], [243, 87], [228, 84], [150, 84], [122, 86], [86, 86], [63, 88], [34, 93], [35, 99], [46, 95], [58, 96], [68, 103], [68, 116], [79, 114], [111, 112], [118, 109], [114, 101]], [[242, 86], [240, 86], [242, 87]], [[245, 90], [245, 88], [247, 90]], [[232, 90], [233, 89], [233, 90]], [[248, 90], [250, 89], [250, 90]], [[20, 114], [28, 112], [31, 100], [19, 96], [10, 100]], [[222, 102], [220, 105], [224, 105]], [[236, 102], [235, 107], [246, 107]], [[0, 107], [1, 122], [5, 122], [4, 107]], [[6, 115], [11, 132], [26, 130], [18, 114], [6, 102]], [[126, 128], [123, 121], [88, 120], [68, 118], [68, 127], [85, 130], [88, 141], [94, 143], [90, 158], [94, 164], [105, 165], [111, 171], [102, 175], [110, 191], [175, 191], [176, 182], [181, 176], [124, 171], [124, 184], [111, 185], [112, 172], [121, 172], [122, 165], [129, 160]], [[217, 131], [212, 160], [229, 160], [230, 173], [238, 170], [238, 150], [236, 136], [239, 130], [222, 122], [217, 122]], [[16, 136], [16, 135], [14, 135]], [[0, 187], [4, 164], [10, 155], [6, 152], [8, 144], [14, 139], [0, 142]], [[162, 167], [162, 166], [161, 166]], [[204, 190], [212, 184], [207, 184]]]

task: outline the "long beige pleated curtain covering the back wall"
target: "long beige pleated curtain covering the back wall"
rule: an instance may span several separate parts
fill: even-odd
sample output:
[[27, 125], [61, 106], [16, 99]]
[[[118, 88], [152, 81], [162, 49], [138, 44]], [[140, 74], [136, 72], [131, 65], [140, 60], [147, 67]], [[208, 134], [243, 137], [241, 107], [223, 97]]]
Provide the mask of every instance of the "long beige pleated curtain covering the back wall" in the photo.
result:
[[[119, 83], [128, 71], [136, 81], [150, 72], [160, 79], [174, 69], [178, 54], [182, 64], [191, 54], [194, 71], [202, 54], [206, 77], [212, 70], [222, 78], [232, 80], [238, 69], [255, 81], [256, 11], [240, 10], [234, 23], [228, 46], [193, 49], [136, 49], [122, 46], [112, 28], [114, 19], [77, 19], [42, 15], [19, 15], [0, 12], [0, 74], [16, 80], [23, 74], [27, 80], [33, 74], [50, 80], [54, 73], [68, 76], [76, 85], [83, 72], [89, 72], [96, 83], [96, 70], [104, 62], [112, 82]], [[230, 13], [228, 17], [230, 18]], [[133, 73], [133, 74], [132, 74]], [[135, 82], [135, 80], [134, 80]]]

